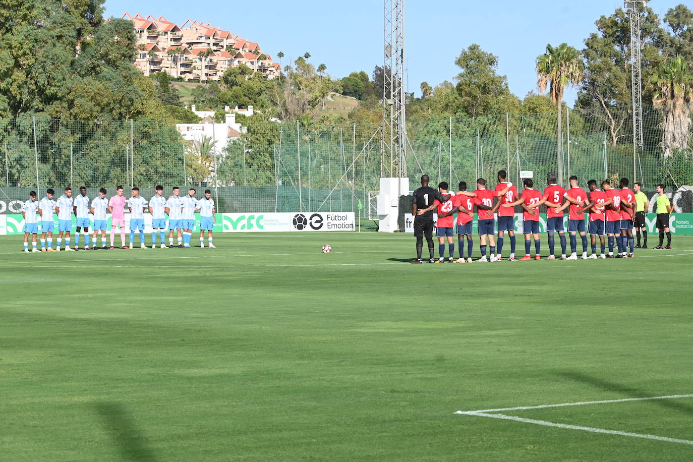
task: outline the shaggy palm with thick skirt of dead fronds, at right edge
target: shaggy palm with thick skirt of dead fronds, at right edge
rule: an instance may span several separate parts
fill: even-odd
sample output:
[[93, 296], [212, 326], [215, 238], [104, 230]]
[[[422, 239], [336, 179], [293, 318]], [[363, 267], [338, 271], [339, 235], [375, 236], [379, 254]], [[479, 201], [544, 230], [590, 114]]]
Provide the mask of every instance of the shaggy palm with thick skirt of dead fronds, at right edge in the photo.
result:
[[651, 82], [657, 89], [654, 103], [663, 105], [663, 157], [688, 149], [693, 109], [693, 69], [681, 57], [665, 62]]

